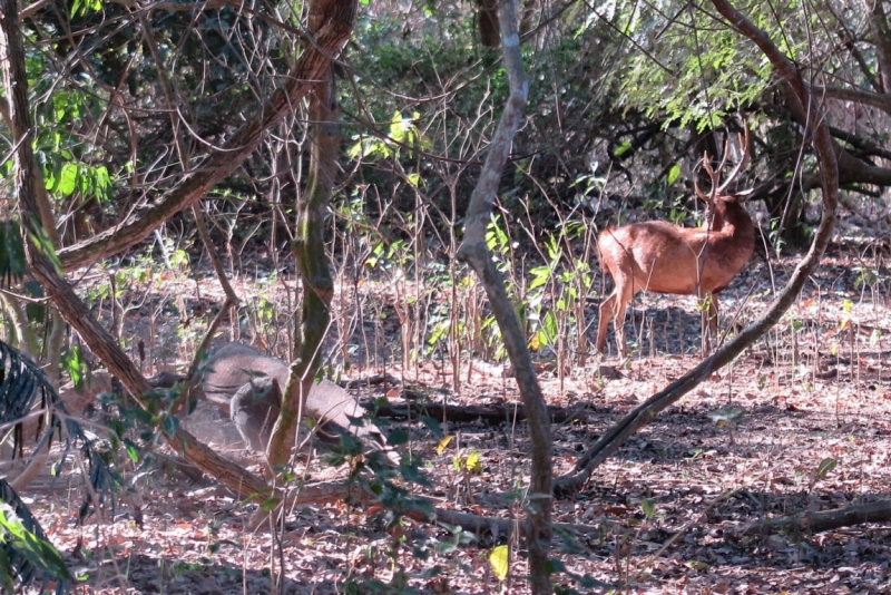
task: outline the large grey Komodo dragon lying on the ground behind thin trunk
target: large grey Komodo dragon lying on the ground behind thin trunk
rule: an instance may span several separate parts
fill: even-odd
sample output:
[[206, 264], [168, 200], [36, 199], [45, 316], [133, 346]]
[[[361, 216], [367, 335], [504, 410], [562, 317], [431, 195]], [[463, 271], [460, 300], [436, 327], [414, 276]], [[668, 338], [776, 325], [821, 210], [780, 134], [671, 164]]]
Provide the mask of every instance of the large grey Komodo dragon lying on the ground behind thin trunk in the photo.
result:
[[[200, 373], [200, 388], [204, 397], [235, 422], [245, 443], [265, 451], [288, 372], [287, 364], [276, 358], [244, 343], [227, 343], [212, 353]], [[384, 443], [372, 423], [356, 426], [350, 421], [347, 416], [359, 418], [364, 410], [352, 394], [327, 380], [313, 384], [304, 413], [323, 425], [326, 431], [354, 431], [373, 446], [380, 448]], [[376, 435], [376, 440], [372, 433]]]

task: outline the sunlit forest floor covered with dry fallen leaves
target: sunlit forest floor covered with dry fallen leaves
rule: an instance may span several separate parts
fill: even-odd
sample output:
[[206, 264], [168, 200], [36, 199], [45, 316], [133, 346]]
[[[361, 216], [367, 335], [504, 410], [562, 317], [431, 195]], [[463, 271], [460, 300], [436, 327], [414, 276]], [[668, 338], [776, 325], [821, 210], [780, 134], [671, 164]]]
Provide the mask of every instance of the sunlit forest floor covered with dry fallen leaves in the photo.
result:
[[[781, 287], [793, 264], [774, 263], [770, 272], [753, 260], [722, 301], [725, 320], [747, 322], [763, 311], [770, 296], [762, 290]], [[742, 533], [767, 518], [891, 492], [891, 311], [881, 276], [873, 284], [858, 281], [862, 264], [846, 251], [830, 253], [766, 339], [635, 435], [574, 498], [555, 501], [555, 521], [581, 529], [555, 535], [552, 556], [564, 565], [555, 575], [558, 585], [579, 593], [617, 585], [629, 593], [891, 593], [891, 524]], [[887, 274], [881, 263], [866, 263], [866, 270]], [[204, 299], [210, 294], [204, 291]], [[588, 316], [596, 320], [595, 308]], [[396, 316], [370, 319], [363, 324], [389, 328], [384, 342], [400, 342]], [[541, 358], [548, 403], [574, 411], [570, 421], [552, 427], [555, 476], [570, 472], [613, 422], [698, 362], [692, 353], [698, 345], [695, 321], [691, 299], [646, 296], [629, 320], [629, 336], [634, 323], [639, 338], [629, 360], [608, 357], [606, 368], [598, 358], [584, 368], [568, 362], [560, 378], [549, 358]], [[502, 364], [462, 362], [456, 391], [448, 358], [434, 353], [407, 369], [400, 361], [354, 361], [344, 375], [386, 371], [403, 383], [361, 397], [394, 402], [409, 393], [453, 406], [519, 399]], [[256, 464], [226, 428], [229, 422], [215, 416], [199, 408], [188, 423], [215, 449]], [[423, 423], [386, 422], [409, 430], [410, 442], [399, 450], [410, 448], [423, 461], [429, 485], [407, 484], [410, 490], [443, 509], [522, 518], [521, 503], [499, 497], [528, 485], [522, 421], [448, 421], [448, 445]], [[468, 456], [478, 456], [480, 468], [456, 469], [456, 458]], [[298, 469], [313, 481], [346, 475], [343, 466], [320, 458]], [[388, 531], [376, 521], [380, 506], [342, 500], [290, 510], [284, 530], [248, 531], [256, 505], [209, 480], [160, 471], [130, 476], [130, 495], [77, 526], [82, 491], [61, 485], [38, 486], [25, 496], [81, 578], [78, 593], [260, 594], [270, 593], [271, 576], [280, 574], [284, 593], [528, 592], [526, 553], [503, 534], [463, 535], [468, 543], [449, 547], [459, 540], [449, 527], [403, 520]], [[499, 544], [511, 546], [505, 583], [489, 562]]]

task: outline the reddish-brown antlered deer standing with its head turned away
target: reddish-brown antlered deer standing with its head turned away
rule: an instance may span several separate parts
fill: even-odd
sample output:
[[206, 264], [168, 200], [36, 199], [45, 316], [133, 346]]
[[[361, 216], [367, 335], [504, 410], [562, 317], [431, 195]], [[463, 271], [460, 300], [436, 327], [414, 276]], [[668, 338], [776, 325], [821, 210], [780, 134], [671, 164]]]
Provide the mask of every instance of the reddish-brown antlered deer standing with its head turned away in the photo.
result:
[[[755, 228], [745, 207], [735, 195], [724, 191], [738, 175], [748, 154], [748, 130], [740, 136], [742, 157], [724, 184], [721, 170], [712, 169], [708, 154], [703, 163], [712, 178], [712, 192], [705, 195], [694, 183], [696, 195], [706, 203], [704, 228], [688, 228], [664, 221], [634, 223], [608, 228], [598, 237], [600, 269], [613, 275], [616, 287], [600, 304], [597, 325], [597, 351], [604, 352], [609, 321], [616, 330], [616, 343], [626, 354], [623, 322], [628, 303], [640, 291], [696, 295], [702, 304], [703, 354], [711, 350], [708, 334], [717, 336], [717, 293], [730, 285], [748, 262], [755, 246]], [[698, 169], [698, 168], [697, 168]]]

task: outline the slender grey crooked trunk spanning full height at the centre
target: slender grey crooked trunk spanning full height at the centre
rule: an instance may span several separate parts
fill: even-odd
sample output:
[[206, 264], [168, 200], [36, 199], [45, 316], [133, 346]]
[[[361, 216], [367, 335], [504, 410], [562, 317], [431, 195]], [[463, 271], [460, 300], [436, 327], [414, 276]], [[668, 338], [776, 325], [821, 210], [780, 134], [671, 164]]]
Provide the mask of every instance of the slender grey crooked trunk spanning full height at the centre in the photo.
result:
[[492, 263], [489, 248], [486, 246], [486, 228], [491, 221], [495, 196], [501, 181], [510, 153], [510, 145], [522, 119], [529, 84], [523, 70], [520, 55], [520, 40], [517, 35], [517, 7], [513, 0], [499, 2], [501, 20], [501, 47], [505, 53], [505, 67], [510, 82], [510, 96], [505, 113], [498, 123], [492, 142], [489, 145], [486, 164], [480, 172], [477, 186], [470, 197], [467, 214], [467, 231], [457, 257], [469, 264], [480, 277], [492, 313], [501, 329], [505, 347], [513, 365], [517, 384], [523, 403], [529, 411], [529, 433], [531, 448], [531, 481], [529, 486], [529, 506], [527, 547], [529, 548], [529, 581], [532, 593], [551, 593], [548, 564], [550, 547], [551, 516], [551, 440], [550, 421], [545, 407], [541, 388], [538, 386], [532, 359], [526, 347], [526, 336], [520, 330], [517, 314], [505, 290], [505, 281]]

